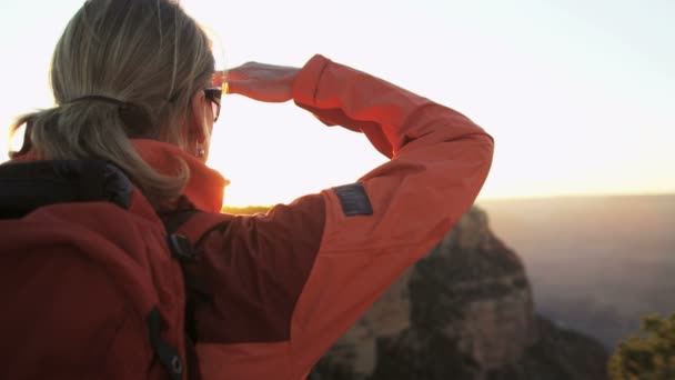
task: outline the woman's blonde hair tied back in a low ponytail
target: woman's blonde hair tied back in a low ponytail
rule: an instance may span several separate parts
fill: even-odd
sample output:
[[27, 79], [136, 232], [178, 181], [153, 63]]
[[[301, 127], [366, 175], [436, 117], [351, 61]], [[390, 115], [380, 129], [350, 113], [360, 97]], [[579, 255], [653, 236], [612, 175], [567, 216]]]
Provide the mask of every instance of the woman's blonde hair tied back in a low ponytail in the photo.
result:
[[[160, 174], [130, 139], [193, 148], [185, 131], [192, 97], [208, 87], [213, 70], [209, 38], [177, 1], [89, 0], [53, 53], [50, 79], [59, 106], [19, 118], [12, 131], [29, 126], [27, 139], [39, 159], [117, 164], [159, 207], [181, 193], [187, 166]], [[127, 106], [75, 101], [92, 96]]]

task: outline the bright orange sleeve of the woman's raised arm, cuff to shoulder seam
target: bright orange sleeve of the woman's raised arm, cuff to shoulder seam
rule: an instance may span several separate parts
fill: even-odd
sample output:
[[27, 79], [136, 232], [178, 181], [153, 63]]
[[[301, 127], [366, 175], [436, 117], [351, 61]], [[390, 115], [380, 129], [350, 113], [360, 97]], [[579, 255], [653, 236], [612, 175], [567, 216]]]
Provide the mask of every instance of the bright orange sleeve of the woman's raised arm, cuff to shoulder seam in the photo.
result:
[[301, 71], [294, 99], [391, 158], [359, 181], [372, 214], [349, 216], [349, 193], [323, 192], [323, 239], [292, 319], [302, 372], [471, 207], [493, 141], [452, 109], [321, 56]]

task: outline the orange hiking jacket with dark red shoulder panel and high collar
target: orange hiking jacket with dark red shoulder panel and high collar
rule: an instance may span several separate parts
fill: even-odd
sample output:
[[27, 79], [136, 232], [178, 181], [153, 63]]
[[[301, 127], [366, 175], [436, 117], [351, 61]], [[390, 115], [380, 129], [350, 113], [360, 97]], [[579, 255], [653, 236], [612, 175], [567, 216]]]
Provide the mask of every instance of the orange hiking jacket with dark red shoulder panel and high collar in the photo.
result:
[[365, 133], [391, 160], [353, 184], [242, 217], [218, 213], [218, 173], [137, 141], [155, 168], [188, 160], [187, 197], [220, 223], [189, 270], [213, 293], [194, 310], [205, 379], [305, 378], [471, 207], [490, 170], [493, 141], [466, 117], [321, 56], [301, 70], [293, 98], [329, 126]]

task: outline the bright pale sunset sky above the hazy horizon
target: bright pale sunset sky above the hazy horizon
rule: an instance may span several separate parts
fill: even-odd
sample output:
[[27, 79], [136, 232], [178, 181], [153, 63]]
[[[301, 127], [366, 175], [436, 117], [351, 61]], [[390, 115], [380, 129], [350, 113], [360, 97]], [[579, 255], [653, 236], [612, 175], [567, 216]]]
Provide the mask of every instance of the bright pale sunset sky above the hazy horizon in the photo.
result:
[[[0, 0], [0, 120], [51, 106], [82, 0]], [[470, 117], [495, 139], [480, 199], [675, 193], [675, 1], [183, 0], [222, 68], [321, 53]], [[222, 50], [222, 51], [221, 51]], [[292, 102], [223, 101], [209, 164], [230, 206], [290, 202], [385, 162]]]

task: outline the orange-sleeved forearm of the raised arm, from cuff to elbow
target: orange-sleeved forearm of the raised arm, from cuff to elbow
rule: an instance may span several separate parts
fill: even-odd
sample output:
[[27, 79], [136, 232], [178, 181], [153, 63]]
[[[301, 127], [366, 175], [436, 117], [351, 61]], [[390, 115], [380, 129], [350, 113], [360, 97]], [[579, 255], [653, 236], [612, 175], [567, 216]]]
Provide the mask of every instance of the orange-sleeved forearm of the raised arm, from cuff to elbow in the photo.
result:
[[442, 141], [491, 140], [463, 114], [322, 56], [312, 58], [300, 71], [293, 99], [325, 124], [364, 132], [389, 158], [430, 133]]

